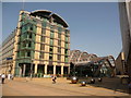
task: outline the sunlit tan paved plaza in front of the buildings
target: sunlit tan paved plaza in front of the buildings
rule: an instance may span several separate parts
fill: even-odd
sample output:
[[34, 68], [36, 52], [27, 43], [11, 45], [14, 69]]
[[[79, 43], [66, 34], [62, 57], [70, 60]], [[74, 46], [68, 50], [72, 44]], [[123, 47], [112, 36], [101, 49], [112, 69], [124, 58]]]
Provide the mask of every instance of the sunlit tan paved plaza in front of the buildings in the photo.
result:
[[[51, 78], [15, 78], [5, 81], [2, 85], [2, 96], [129, 96], [127, 93], [112, 89], [80, 84], [71, 84], [67, 78], [57, 78], [52, 84]], [[99, 97], [100, 98], [100, 97]]]

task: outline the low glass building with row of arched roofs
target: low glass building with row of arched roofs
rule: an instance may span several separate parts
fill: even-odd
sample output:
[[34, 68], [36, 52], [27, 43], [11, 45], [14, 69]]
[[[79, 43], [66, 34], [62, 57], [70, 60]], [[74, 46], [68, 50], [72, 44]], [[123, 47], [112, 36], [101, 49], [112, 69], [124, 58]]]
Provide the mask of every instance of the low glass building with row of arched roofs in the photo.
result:
[[115, 59], [112, 56], [97, 57], [80, 50], [72, 50], [70, 57], [71, 74], [76, 76], [114, 76]]

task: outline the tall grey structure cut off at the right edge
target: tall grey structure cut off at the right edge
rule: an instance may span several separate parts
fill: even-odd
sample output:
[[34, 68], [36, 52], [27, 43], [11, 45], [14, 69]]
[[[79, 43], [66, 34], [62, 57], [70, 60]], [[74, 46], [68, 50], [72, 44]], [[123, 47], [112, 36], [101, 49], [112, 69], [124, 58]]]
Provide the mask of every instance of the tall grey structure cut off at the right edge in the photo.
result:
[[131, 0], [119, 2], [119, 14], [122, 36], [122, 61], [124, 61], [123, 69], [131, 82]]

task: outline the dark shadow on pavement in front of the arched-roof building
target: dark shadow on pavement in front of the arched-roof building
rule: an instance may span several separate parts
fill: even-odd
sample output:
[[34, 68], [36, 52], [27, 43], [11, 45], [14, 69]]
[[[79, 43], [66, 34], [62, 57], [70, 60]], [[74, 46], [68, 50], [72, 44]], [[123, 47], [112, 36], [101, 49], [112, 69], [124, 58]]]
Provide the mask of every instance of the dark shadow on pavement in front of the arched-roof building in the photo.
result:
[[94, 86], [94, 87], [103, 87], [107, 89], [111, 89], [120, 93], [127, 93], [131, 94], [131, 89], [129, 90], [128, 84], [121, 84], [120, 78], [117, 77], [104, 77], [102, 82], [98, 82], [98, 78], [95, 79], [95, 84], [90, 83], [91, 78], [80, 78], [79, 82], [85, 81], [87, 82], [87, 85]]

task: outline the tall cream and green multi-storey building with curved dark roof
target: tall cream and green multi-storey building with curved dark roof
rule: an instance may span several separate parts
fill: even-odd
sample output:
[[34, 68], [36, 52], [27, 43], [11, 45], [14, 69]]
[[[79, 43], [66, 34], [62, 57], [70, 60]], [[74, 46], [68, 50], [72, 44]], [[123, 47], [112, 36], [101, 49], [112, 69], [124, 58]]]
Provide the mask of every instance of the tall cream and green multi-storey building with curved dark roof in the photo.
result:
[[1, 47], [1, 71], [15, 76], [70, 73], [70, 30], [47, 10], [20, 11], [16, 29]]

